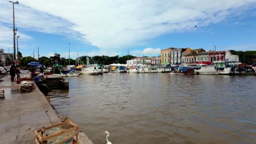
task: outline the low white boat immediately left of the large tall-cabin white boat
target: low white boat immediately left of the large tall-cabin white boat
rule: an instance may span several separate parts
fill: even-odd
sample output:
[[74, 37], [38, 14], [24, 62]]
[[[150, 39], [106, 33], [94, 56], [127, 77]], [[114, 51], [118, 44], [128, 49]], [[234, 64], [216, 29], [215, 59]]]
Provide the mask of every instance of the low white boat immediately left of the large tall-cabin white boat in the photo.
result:
[[[191, 67], [192, 68], [192, 67]], [[219, 71], [216, 71], [214, 65], [208, 65], [203, 67], [193, 67], [194, 73], [197, 75], [218, 75]]]

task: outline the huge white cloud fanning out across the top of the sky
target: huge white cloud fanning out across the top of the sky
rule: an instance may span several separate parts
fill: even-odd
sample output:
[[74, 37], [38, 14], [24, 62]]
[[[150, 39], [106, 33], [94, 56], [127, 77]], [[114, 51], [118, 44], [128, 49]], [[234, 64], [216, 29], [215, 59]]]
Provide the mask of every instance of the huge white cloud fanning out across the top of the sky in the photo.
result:
[[[11, 27], [11, 4], [8, 1], [0, 4], [4, 4], [0, 22]], [[255, 0], [22, 0], [15, 10], [21, 29], [62, 34], [97, 46], [101, 51], [114, 51], [143, 44], [159, 35], [193, 31], [195, 25], [223, 21], [252, 4]]]

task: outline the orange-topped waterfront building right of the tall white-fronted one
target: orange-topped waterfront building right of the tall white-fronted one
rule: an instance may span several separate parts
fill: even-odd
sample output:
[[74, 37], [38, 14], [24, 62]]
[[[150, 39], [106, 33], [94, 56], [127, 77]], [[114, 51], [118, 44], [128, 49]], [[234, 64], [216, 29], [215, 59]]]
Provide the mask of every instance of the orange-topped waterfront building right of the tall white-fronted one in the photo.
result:
[[198, 53], [204, 52], [205, 50], [203, 49], [190, 49], [187, 48], [183, 53], [182, 53], [182, 63], [183, 64], [190, 64], [190, 63], [196, 63], [197, 62], [197, 57]]

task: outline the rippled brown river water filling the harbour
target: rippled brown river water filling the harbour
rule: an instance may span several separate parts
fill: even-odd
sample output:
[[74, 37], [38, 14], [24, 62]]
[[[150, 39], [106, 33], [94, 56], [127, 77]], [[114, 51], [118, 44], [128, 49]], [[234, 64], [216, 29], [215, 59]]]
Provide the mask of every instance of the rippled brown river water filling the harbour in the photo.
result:
[[67, 78], [51, 104], [94, 142], [255, 143], [256, 77], [119, 74]]

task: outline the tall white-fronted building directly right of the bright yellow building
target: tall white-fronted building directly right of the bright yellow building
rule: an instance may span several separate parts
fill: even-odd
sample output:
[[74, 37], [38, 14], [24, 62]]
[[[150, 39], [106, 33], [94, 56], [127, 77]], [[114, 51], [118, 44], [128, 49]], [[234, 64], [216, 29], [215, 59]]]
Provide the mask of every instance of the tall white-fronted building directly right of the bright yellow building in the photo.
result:
[[185, 51], [186, 49], [182, 49], [182, 48], [175, 48], [171, 50], [171, 61], [170, 64], [174, 65], [178, 65], [182, 63], [182, 53]]

